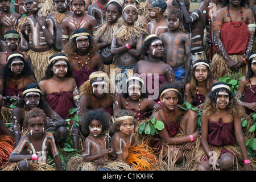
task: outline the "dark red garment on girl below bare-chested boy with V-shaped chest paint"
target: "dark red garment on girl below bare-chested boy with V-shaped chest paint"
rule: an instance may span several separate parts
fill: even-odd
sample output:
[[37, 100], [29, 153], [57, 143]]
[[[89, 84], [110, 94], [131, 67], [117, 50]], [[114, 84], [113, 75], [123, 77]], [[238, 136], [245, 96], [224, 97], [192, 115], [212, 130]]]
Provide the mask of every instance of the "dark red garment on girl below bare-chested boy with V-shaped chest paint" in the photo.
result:
[[76, 80], [76, 85], [77, 88], [80, 87], [80, 85], [82, 85], [85, 81], [89, 80], [89, 76], [90, 74], [92, 74], [93, 72], [96, 72], [96, 69], [88, 69], [83, 67], [82, 70], [73, 70], [73, 76]]

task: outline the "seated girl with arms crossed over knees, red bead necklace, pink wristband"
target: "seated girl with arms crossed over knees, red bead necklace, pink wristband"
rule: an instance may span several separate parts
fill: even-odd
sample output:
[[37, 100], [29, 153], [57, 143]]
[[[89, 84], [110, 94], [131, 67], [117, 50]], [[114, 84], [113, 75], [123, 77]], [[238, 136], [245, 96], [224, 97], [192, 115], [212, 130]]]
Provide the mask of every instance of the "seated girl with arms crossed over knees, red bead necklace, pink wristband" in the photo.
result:
[[181, 98], [179, 86], [164, 84], [159, 90], [162, 111], [156, 111], [152, 117], [164, 123], [164, 129], [154, 135], [152, 148], [157, 148], [159, 158], [167, 160], [172, 167], [176, 162], [181, 162], [186, 155], [186, 150], [193, 149], [193, 141], [200, 137], [197, 131], [197, 114], [192, 110], [180, 109], [177, 103]]

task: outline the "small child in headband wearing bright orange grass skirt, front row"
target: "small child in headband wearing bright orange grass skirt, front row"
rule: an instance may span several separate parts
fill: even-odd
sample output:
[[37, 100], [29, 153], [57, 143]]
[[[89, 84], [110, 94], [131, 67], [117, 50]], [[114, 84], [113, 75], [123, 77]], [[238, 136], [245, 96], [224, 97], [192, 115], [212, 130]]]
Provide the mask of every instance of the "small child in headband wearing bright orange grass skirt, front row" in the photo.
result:
[[115, 130], [110, 148], [113, 148], [113, 160], [126, 162], [137, 170], [154, 169], [156, 159], [143, 144], [137, 143], [134, 131], [138, 126], [135, 113], [130, 110], [119, 110], [115, 118]]

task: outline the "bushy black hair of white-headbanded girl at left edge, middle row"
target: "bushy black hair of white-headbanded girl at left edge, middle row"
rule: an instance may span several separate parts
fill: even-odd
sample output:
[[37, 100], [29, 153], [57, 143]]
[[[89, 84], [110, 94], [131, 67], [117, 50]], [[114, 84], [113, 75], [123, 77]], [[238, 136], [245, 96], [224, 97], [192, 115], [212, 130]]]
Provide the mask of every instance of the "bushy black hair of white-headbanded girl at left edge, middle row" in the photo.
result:
[[[14, 52], [14, 53], [15, 53], [15, 54], [20, 54], [21, 56], [24, 57], [23, 53], [20, 53], [20, 52]], [[9, 56], [13, 55], [14, 53], [11, 53]], [[8, 56], [8, 57], [9, 57], [9, 56]], [[31, 63], [28, 62], [28, 61], [25, 61], [24, 58], [21, 57], [21, 56], [14, 56], [14, 57], [11, 57], [11, 58], [8, 60], [7, 64], [3, 65], [2, 71], [0, 72], [0, 77], [1, 77], [1, 78], [3, 78], [3, 79], [6, 80], [6, 81], [10, 81], [10, 80], [11, 80], [11, 77], [13, 76], [13, 72], [11, 71], [10, 66], [11, 66], [11, 63], [13, 63], [13, 60], [14, 60], [14, 59], [19, 59], [20, 61], [23, 62], [24, 68], [23, 68], [23, 71], [22, 71], [21, 74], [22, 74], [24, 77], [28, 77], [28, 76], [32, 76], [32, 75], [35, 76], [35, 74], [34, 74], [34, 72], [33, 72], [33, 70], [32, 70], [32, 65], [31, 65]], [[8, 59], [8, 57], [7, 57], [7, 59]], [[7, 61], [7, 59], [6, 59], [6, 61]]]

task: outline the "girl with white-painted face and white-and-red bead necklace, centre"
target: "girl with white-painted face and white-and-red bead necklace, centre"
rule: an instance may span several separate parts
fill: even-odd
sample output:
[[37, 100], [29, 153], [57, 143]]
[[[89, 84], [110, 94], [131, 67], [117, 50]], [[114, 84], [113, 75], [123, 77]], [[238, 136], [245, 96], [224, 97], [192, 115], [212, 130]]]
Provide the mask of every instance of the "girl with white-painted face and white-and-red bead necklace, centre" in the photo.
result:
[[159, 104], [147, 98], [142, 78], [133, 76], [128, 78], [126, 82], [126, 92], [114, 97], [114, 115], [118, 113], [118, 110], [126, 109], [134, 111], [138, 121], [148, 118], [149, 113], [154, 110], [154, 106]]

